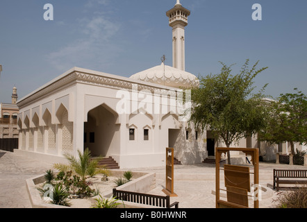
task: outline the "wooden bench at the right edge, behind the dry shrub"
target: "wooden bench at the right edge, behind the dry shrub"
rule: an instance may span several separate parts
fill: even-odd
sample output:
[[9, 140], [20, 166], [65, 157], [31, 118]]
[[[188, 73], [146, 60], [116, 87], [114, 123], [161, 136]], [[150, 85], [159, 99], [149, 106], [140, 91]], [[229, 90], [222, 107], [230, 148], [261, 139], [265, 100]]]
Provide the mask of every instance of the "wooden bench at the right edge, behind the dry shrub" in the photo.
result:
[[[283, 178], [289, 178], [288, 180], [283, 180]], [[281, 184], [288, 185], [299, 185], [307, 184], [307, 170], [305, 169], [274, 169], [274, 189], [279, 191], [280, 188], [290, 188], [290, 187], [280, 187]]]

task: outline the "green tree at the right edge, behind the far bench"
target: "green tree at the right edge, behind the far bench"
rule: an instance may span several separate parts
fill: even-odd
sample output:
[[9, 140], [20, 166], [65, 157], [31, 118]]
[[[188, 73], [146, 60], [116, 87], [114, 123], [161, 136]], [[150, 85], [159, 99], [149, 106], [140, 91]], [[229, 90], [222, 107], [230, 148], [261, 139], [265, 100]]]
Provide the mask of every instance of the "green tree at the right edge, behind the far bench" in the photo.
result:
[[260, 140], [271, 144], [289, 142], [293, 155], [294, 143], [307, 144], [307, 96], [294, 91], [271, 102], [267, 128], [260, 134]]

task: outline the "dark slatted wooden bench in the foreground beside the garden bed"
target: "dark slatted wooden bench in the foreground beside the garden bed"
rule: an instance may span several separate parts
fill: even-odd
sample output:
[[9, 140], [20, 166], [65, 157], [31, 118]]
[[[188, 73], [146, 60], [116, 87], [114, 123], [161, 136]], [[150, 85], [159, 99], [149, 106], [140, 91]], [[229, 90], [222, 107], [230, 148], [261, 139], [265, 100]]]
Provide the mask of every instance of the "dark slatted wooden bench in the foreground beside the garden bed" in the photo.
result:
[[178, 208], [179, 207], [179, 202], [174, 202], [170, 204], [169, 196], [141, 194], [141, 193], [136, 193], [136, 192], [131, 192], [131, 191], [117, 190], [114, 188], [113, 197], [119, 200], [124, 200], [128, 202], [133, 202], [133, 203], [141, 203], [144, 205], [152, 205], [156, 207], [165, 207], [165, 208], [171, 208], [171, 207]]

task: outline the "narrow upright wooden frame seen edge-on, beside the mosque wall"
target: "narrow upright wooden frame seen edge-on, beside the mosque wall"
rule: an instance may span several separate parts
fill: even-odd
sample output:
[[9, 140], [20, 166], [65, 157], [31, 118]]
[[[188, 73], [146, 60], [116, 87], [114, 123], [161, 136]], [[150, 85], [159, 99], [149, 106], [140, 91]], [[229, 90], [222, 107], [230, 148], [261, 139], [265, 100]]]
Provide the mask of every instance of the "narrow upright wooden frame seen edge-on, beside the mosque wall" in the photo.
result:
[[171, 197], [178, 196], [174, 193], [174, 148], [166, 148], [165, 189], [162, 191]]

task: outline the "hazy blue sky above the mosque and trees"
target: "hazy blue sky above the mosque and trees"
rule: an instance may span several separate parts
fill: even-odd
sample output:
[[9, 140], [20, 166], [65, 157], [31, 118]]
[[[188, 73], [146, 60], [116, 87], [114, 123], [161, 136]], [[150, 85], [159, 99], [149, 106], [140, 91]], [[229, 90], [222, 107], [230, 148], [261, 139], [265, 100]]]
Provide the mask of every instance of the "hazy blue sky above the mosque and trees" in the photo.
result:
[[[44, 4], [54, 20], [44, 20]], [[1, 0], [0, 102], [19, 99], [72, 67], [129, 77], [160, 65], [172, 66], [172, 28], [165, 12], [176, 0]], [[274, 97], [298, 87], [307, 94], [306, 0], [181, 0], [191, 10], [185, 28], [185, 69], [217, 74], [219, 61], [249, 58], [269, 67], [256, 77]], [[262, 21], [251, 6], [260, 3]]]

